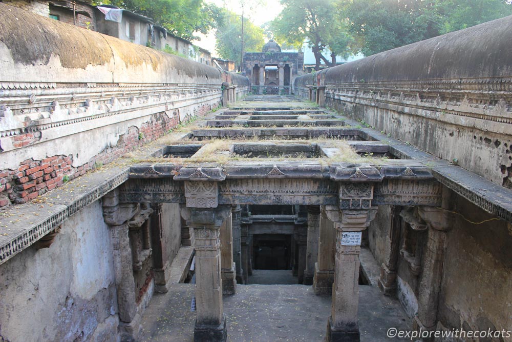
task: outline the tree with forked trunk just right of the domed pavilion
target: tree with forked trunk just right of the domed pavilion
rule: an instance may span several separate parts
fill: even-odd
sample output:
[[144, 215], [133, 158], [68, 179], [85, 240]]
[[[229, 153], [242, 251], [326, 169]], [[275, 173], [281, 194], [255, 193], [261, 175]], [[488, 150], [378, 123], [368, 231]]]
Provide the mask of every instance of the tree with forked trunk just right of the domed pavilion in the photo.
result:
[[[272, 22], [272, 31], [280, 42], [296, 47], [308, 42], [316, 60], [315, 70], [320, 61], [328, 66], [336, 64], [336, 55], [347, 55], [351, 37], [344, 23], [336, 16], [334, 0], [281, 0], [283, 10]], [[329, 61], [323, 52], [332, 51]]]

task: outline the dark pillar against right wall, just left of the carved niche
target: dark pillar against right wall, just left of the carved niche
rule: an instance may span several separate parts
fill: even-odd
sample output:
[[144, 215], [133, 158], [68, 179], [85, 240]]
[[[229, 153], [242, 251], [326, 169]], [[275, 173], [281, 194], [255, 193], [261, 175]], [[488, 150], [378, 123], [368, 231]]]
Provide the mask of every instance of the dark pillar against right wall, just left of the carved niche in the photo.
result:
[[386, 296], [396, 293], [396, 271], [398, 255], [400, 253], [400, 206], [393, 206], [391, 209], [391, 227], [386, 239], [385, 260], [380, 266], [379, 288]]

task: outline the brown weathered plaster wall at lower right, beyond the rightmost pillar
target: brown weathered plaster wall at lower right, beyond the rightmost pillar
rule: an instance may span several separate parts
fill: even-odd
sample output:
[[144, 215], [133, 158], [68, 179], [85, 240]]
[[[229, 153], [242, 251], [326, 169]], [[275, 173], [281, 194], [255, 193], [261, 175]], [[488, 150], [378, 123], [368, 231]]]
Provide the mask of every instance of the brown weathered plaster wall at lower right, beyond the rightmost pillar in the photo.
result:
[[[468, 220], [493, 217], [458, 197]], [[438, 327], [501, 330], [512, 327], [512, 229], [502, 220], [472, 224], [454, 216], [447, 232]]]

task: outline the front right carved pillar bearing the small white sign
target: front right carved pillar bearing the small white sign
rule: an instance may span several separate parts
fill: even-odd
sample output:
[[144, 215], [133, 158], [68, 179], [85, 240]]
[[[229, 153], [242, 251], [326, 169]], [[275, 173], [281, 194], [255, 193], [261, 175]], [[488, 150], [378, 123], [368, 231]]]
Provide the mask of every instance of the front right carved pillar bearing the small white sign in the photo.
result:
[[336, 222], [336, 257], [331, 316], [326, 334], [328, 341], [359, 341], [360, 239], [375, 212], [374, 209], [340, 210], [339, 216], [331, 213], [334, 215], [330, 219]]

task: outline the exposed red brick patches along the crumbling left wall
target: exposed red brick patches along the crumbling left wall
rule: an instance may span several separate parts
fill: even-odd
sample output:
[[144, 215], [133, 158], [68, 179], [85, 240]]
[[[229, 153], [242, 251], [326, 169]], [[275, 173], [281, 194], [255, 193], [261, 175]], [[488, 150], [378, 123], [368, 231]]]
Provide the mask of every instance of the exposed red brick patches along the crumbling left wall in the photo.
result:
[[[200, 107], [196, 115], [203, 116], [211, 110], [210, 106]], [[107, 148], [88, 163], [73, 167], [72, 155], [48, 156], [42, 160], [27, 159], [15, 170], [0, 171], [0, 208], [11, 204], [26, 203], [35, 197], [64, 184], [68, 179], [83, 175], [87, 171], [119, 158], [126, 152], [151, 142], [179, 124], [179, 115], [169, 118], [164, 113], [152, 116], [151, 120], [140, 128], [130, 127], [121, 135], [116, 146]], [[37, 141], [39, 132], [27, 133], [16, 137], [15, 144], [25, 147]]]

